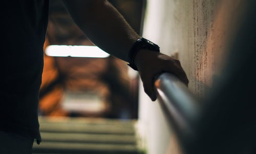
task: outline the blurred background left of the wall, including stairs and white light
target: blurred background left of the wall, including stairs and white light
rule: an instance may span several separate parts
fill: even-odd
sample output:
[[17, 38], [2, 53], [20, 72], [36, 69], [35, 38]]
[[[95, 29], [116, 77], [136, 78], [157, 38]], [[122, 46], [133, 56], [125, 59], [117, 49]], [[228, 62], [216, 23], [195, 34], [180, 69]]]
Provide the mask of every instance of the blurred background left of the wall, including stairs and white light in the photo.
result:
[[[111, 0], [138, 33], [144, 0]], [[140, 153], [136, 71], [95, 46], [51, 0], [39, 94], [42, 142], [33, 153]]]

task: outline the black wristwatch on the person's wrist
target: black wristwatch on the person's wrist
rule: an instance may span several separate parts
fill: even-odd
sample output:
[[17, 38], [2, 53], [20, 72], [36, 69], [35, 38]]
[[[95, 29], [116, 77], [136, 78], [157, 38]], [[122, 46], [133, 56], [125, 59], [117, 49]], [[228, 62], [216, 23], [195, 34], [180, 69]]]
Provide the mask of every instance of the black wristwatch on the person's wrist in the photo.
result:
[[128, 54], [128, 62], [130, 67], [132, 67], [134, 70], [138, 70], [137, 66], [134, 64], [134, 58], [137, 55], [137, 53], [139, 52], [139, 50], [141, 49], [149, 49], [152, 50], [154, 52], [158, 52], [160, 53], [160, 49], [159, 46], [145, 38], [140, 38], [138, 39], [132, 46], [132, 48], [130, 49], [130, 52]]

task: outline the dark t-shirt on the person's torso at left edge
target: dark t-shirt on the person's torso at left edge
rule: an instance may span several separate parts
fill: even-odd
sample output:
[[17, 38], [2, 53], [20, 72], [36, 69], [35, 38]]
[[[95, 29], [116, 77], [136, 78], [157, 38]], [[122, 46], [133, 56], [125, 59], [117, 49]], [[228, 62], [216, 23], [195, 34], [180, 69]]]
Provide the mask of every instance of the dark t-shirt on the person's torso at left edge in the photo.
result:
[[40, 140], [38, 92], [49, 0], [1, 2], [0, 130]]

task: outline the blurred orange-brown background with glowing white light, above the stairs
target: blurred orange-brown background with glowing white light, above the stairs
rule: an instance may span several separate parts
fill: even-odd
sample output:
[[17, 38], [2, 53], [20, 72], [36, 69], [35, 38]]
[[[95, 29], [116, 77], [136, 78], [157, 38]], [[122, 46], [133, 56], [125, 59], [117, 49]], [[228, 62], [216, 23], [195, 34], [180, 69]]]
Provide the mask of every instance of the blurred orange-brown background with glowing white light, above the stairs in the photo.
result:
[[[65, 48], [94, 46], [67, 13], [61, 1], [50, 1], [50, 17], [45, 42], [45, 66], [40, 88], [39, 114], [42, 116], [104, 117], [134, 119], [138, 113], [138, 76], [126, 62], [110, 56], [90, 56], [94, 50]], [[110, 1], [141, 34], [144, 1]], [[56, 46], [57, 45], [57, 46]], [[52, 47], [52, 46], [55, 46]], [[58, 47], [62, 48], [59, 49]], [[64, 49], [63, 49], [64, 47]], [[70, 51], [69, 51], [70, 52]], [[84, 55], [81, 56], [81, 52]]]

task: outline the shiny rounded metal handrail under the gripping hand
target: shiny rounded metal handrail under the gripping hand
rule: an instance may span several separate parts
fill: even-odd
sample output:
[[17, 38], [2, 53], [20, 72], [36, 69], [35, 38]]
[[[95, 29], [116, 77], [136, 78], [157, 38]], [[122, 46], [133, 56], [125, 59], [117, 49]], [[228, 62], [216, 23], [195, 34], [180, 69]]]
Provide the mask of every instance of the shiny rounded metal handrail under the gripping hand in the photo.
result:
[[193, 134], [192, 124], [199, 114], [197, 98], [171, 73], [160, 74], [155, 87], [162, 110], [176, 134]]

